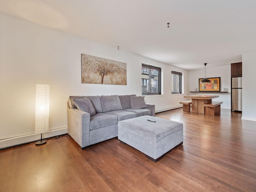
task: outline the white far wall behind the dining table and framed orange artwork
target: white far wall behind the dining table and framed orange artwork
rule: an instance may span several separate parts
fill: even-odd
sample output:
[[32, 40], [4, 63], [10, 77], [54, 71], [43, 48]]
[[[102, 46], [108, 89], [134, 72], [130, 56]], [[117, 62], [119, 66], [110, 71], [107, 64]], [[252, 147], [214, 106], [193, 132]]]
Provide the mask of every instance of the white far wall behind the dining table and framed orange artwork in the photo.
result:
[[[231, 109], [231, 74], [230, 64], [220, 67], [208, 68], [206, 65], [206, 78], [220, 77], [220, 90], [222, 87], [226, 89], [228, 93], [204, 93], [208, 95], [219, 95], [218, 98], [214, 98], [213, 101], [222, 101], [221, 108]], [[199, 90], [199, 78], [204, 78], [204, 69], [190, 70], [189, 71], [189, 90], [195, 91], [195, 88]], [[200, 93], [190, 93], [195, 95]]]

